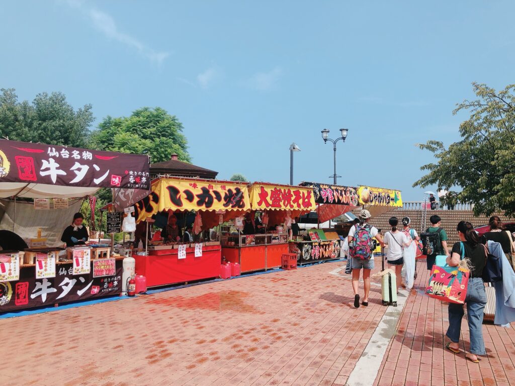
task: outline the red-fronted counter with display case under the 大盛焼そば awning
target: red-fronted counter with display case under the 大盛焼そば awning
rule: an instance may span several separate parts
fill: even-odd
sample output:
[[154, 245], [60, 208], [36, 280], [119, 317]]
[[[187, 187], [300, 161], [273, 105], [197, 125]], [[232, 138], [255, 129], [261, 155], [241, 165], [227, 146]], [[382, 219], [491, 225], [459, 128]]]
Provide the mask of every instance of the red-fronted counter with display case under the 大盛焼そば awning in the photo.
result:
[[220, 242], [222, 259], [237, 262], [242, 272], [280, 267], [282, 254], [288, 253], [287, 233], [223, 233]]

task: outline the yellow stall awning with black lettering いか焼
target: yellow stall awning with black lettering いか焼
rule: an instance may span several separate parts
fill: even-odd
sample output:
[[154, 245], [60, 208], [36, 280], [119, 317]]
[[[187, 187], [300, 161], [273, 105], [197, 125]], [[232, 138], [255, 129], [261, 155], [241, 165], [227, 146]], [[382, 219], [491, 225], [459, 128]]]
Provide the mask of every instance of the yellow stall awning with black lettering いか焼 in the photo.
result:
[[151, 193], [138, 201], [136, 221], [142, 221], [163, 210], [229, 210], [250, 209], [247, 183], [236, 181], [157, 178]]

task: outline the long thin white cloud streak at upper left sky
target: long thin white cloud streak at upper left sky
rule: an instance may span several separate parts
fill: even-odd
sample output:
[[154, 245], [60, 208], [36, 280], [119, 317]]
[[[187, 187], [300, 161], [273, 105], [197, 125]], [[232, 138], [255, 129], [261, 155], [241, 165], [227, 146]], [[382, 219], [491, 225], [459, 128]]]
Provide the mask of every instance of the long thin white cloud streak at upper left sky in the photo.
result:
[[66, 3], [73, 8], [80, 9], [92, 22], [93, 27], [102, 32], [107, 38], [134, 48], [140, 55], [146, 57], [150, 61], [161, 65], [170, 55], [169, 52], [155, 51], [152, 48], [147, 47], [138, 39], [120, 31], [116, 27], [116, 22], [110, 14], [100, 11], [94, 7], [88, 7], [87, 3], [80, 0], [67, 0]]

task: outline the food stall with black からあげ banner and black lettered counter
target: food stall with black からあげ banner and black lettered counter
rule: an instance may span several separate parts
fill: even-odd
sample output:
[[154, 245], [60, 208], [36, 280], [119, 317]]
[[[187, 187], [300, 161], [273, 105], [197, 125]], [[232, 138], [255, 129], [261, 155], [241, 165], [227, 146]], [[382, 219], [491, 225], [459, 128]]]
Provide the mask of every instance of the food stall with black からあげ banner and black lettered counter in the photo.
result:
[[[354, 187], [313, 182], [303, 182], [301, 186], [313, 189], [319, 222], [336, 218], [359, 204], [357, 190]], [[307, 236], [301, 240], [290, 240], [289, 252], [297, 254], [298, 265], [340, 258], [340, 236], [347, 236], [350, 226], [338, 225], [328, 230], [308, 230]]]

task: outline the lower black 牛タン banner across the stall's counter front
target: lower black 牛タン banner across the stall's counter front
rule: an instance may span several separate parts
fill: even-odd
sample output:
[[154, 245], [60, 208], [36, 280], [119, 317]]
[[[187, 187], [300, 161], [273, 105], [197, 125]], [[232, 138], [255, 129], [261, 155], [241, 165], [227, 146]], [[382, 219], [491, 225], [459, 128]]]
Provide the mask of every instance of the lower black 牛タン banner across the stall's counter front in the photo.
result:
[[0, 283], [0, 313], [122, 292], [122, 260], [116, 260], [116, 273], [112, 276], [93, 277], [93, 268], [87, 275], [72, 272], [73, 264], [58, 264], [56, 277], [36, 279], [34, 267], [21, 267], [20, 280]]

